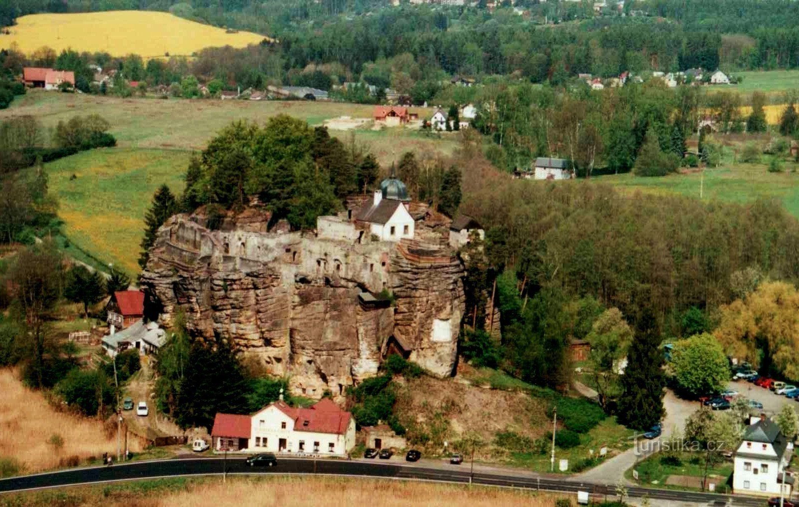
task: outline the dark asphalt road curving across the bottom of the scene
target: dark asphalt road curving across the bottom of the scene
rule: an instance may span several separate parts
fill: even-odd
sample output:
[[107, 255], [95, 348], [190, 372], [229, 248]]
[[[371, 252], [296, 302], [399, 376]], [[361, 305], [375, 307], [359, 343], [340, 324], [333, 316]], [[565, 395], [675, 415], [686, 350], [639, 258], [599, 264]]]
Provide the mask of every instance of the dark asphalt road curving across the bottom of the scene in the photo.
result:
[[[155, 477], [221, 474], [227, 469], [231, 474], [247, 473], [319, 473], [361, 477], [386, 477], [395, 479], [423, 479], [466, 484], [470, 479], [469, 465], [453, 469], [437, 469], [425, 466], [392, 464], [385, 461], [338, 461], [297, 458], [278, 458], [274, 467], [250, 468], [243, 457], [183, 458], [162, 461], [140, 461], [121, 465], [68, 469], [60, 472], [38, 473], [0, 480], [0, 493], [18, 492], [26, 489], [54, 488], [68, 485], [85, 485], [95, 482], [125, 481]], [[519, 477], [504, 473], [477, 473], [473, 482], [480, 485], [511, 486], [525, 489], [542, 489], [564, 493], [589, 491], [595, 495], [615, 497], [614, 485], [589, 482], [566, 481], [550, 477]], [[731, 505], [762, 506], [765, 500], [752, 497], [731, 497], [714, 493], [689, 493], [670, 489], [628, 488], [630, 497], [647, 495], [651, 499], [695, 502], [696, 505], [712, 505], [726, 502]], [[723, 504], [721, 504], [723, 505]]]

